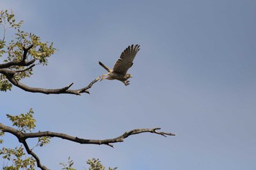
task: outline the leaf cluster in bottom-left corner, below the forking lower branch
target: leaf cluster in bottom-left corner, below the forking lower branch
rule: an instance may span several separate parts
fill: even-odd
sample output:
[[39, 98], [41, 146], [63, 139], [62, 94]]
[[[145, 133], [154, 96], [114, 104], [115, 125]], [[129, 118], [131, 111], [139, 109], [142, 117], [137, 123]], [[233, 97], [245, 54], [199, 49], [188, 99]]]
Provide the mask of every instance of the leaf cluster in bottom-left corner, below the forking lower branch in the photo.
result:
[[32, 157], [26, 157], [23, 147], [15, 147], [15, 149], [3, 147], [0, 150], [2, 158], [12, 162], [10, 166], [4, 166], [5, 170], [18, 170], [18, 169], [34, 169], [36, 161]]

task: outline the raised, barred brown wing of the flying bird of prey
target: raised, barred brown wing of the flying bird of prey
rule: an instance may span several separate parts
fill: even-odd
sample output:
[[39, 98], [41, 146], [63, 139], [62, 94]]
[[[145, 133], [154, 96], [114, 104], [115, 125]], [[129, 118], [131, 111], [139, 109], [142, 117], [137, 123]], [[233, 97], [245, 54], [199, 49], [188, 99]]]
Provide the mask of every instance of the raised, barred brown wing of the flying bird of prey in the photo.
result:
[[123, 53], [121, 53], [120, 58], [116, 61], [116, 64], [113, 68], [113, 72], [118, 74], [127, 74], [128, 69], [132, 66], [132, 61], [135, 58], [135, 55], [140, 50], [140, 45], [131, 45], [127, 47]]

